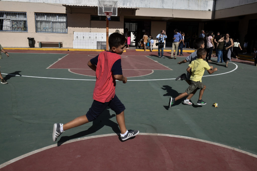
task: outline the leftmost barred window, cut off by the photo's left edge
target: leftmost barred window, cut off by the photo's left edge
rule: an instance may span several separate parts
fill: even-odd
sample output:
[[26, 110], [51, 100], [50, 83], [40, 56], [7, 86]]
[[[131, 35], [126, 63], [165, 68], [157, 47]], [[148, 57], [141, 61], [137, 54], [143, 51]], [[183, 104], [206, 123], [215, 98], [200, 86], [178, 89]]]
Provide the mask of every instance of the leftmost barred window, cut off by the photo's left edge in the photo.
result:
[[27, 32], [27, 13], [0, 11], [0, 31]]

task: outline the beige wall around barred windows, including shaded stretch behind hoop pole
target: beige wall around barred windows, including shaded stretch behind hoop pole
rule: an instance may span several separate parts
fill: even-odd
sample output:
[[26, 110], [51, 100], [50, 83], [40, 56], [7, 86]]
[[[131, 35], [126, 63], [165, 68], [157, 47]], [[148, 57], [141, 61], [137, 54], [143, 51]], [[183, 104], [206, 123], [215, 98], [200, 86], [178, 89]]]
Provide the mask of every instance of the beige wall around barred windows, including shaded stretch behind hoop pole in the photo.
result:
[[[8, 7], [8, 8], [6, 8]], [[8, 9], [8, 10], [6, 10]], [[2, 2], [0, 1], [0, 11], [27, 12], [28, 32], [0, 32], [0, 42], [4, 47], [29, 47], [27, 37], [35, 39], [35, 47], [39, 47], [37, 42], [62, 42], [62, 47], [73, 47], [73, 32], [106, 32], [105, 21], [90, 21], [90, 13], [95, 14], [95, 9], [72, 8], [70, 14], [67, 10], [68, 33], [36, 33], [35, 32], [35, 12], [42, 13], [66, 13], [66, 7], [60, 4], [45, 3], [25, 3], [25, 2]], [[82, 14], [82, 13], [87, 14]], [[109, 33], [119, 29], [123, 32], [124, 17], [120, 16], [120, 22], [109, 22]], [[8, 41], [7, 41], [8, 40]]]

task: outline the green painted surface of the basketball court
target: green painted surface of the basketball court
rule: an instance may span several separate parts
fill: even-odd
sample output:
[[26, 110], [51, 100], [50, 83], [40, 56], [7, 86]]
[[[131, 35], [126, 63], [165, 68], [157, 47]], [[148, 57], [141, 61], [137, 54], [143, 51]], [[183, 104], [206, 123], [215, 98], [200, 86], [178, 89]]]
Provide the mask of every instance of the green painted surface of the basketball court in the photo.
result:
[[[94, 53], [92, 56], [98, 52]], [[74, 74], [68, 69], [46, 69], [65, 55], [10, 53], [9, 58], [0, 61], [1, 72], [8, 82], [0, 85], [0, 165], [56, 144], [52, 142], [53, 124], [84, 115], [91, 106], [95, 77]], [[238, 60], [225, 68], [224, 64], [212, 62], [210, 65], [219, 71], [212, 75], [205, 72], [202, 79], [207, 87], [203, 95], [207, 104], [189, 106], [178, 100], [168, 108], [169, 97], [176, 97], [188, 87], [185, 81], [175, 78], [186, 73], [189, 63], [177, 64], [185, 57], [176, 60], [147, 57], [172, 70], [154, 70], [149, 75], [130, 77], [126, 84], [117, 81], [116, 95], [126, 107], [128, 129], [208, 140], [257, 155], [256, 66]], [[199, 91], [191, 99], [195, 104], [198, 95]], [[213, 103], [218, 103], [218, 108], [212, 107]], [[94, 130], [84, 137], [115, 133], [115, 113], [107, 109], [104, 114], [92, 123], [67, 130], [62, 136], [74, 135], [92, 125]]]

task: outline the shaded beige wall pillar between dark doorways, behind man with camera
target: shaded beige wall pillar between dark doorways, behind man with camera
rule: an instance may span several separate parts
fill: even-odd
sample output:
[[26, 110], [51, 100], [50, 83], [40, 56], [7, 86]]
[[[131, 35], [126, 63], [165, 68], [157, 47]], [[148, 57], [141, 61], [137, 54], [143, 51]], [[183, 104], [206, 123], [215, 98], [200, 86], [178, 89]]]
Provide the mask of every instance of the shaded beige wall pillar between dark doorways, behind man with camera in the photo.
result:
[[[156, 36], [160, 34], [161, 30], [166, 29], [166, 22], [160, 22], [160, 21], [152, 21], [151, 22], [151, 35], [154, 40], [153, 48], [158, 48], [158, 46], [155, 46], [156, 42]], [[167, 36], [173, 36], [173, 35], [167, 35]], [[166, 40], [164, 39], [164, 43], [166, 43]], [[165, 46], [164, 46], [165, 47]]]

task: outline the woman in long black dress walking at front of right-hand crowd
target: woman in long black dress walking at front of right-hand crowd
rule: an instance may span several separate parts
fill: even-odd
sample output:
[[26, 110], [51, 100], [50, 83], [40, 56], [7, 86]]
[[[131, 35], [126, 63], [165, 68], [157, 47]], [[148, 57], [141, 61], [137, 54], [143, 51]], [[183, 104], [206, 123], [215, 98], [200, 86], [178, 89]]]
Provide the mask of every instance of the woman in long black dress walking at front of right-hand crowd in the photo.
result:
[[225, 61], [225, 67], [228, 67], [228, 61], [231, 59], [232, 52], [232, 46], [234, 45], [232, 38], [229, 37], [229, 34], [227, 33], [225, 38], [222, 37], [219, 39], [218, 42], [224, 42], [223, 46], [223, 60]]

